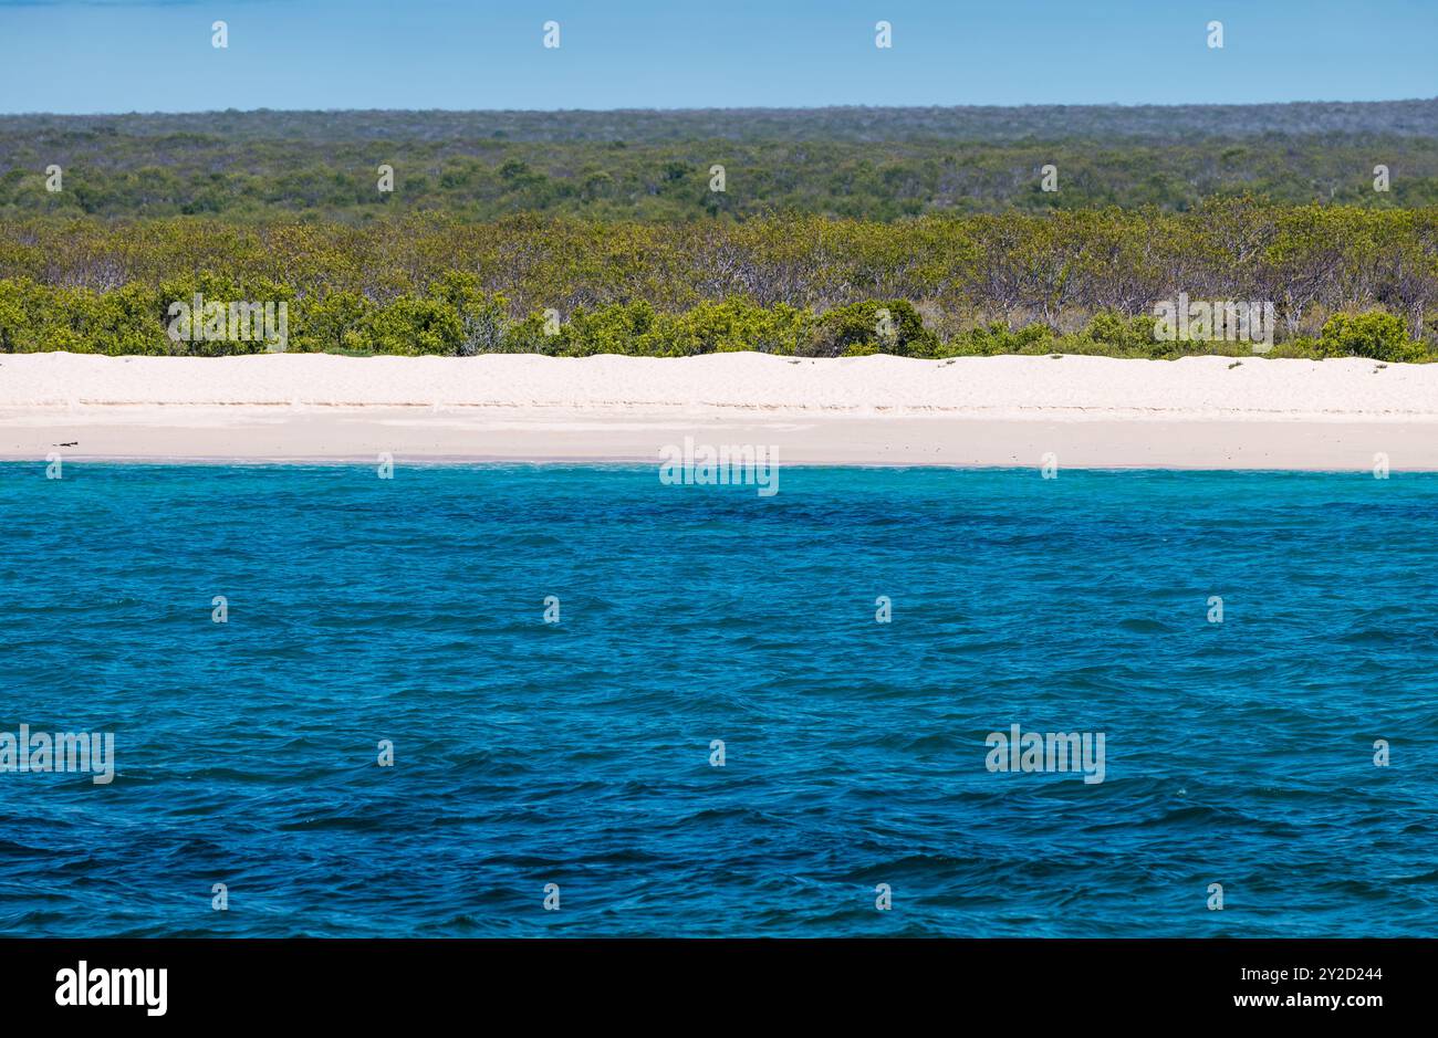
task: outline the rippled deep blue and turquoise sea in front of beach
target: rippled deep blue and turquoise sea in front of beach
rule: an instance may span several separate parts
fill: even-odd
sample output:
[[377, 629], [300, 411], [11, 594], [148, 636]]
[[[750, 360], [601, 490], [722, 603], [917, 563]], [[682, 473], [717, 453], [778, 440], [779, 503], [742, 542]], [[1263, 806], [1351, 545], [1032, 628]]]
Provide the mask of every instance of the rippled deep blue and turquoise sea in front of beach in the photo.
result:
[[0, 536], [0, 732], [118, 758], [0, 773], [3, 934], [1438, 930], [1434, 476], [3, 464]]

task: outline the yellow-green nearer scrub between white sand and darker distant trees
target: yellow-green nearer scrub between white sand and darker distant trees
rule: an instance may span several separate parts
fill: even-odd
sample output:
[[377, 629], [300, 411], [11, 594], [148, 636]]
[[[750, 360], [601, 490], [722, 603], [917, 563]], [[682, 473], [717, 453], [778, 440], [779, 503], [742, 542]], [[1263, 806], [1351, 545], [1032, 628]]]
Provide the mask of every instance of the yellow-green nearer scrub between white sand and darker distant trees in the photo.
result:
[[[0, 349], [10, 351], [165, 352], [168, 305], [200, 293], [288, 302], [292, 349], [1232, 352], [1155, 342], [1155, 303], [1181, 292], [1271, 300], [1274, 355], [1419, 359], [1438, 346], [1438, 208], [1209, 200], [1188, 213], [887, 224], [0, 221]], [[880, 306], [890, 336], [877, 331]], [[545, 334], [546, 312], [557, 334]], [[1386, 321], [1333, 321], [1368, 312]]]

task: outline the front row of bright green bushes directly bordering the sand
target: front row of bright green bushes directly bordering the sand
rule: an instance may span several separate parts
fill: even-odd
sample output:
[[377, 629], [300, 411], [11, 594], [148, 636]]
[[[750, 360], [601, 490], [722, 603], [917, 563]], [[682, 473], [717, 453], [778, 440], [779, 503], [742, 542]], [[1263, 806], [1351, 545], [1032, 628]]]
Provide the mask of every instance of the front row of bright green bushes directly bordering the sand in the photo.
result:
[[[175, 286], [171, 286], [174, 289]], [[275, 296], [292, 296], [283, 288]], [[214, 296], [210, 296], [214, 299]], [[66, 349], [109, 355], [216, 357], [263, 352], [259, 341], [173, 342], [157, 318], [173, 302], [170, 292], [127, 286], [109, 293], [56, 289], [33, 282], [0, 282], [0, 352]], [[864, 300], [823, 315], [787, 303], [759, 306], [749, 299], [702, 302], [679, 313], [660, 313], [644, 302], [605, 303], [577, 311], [554, 323], [544, 313], [513, 321], [505, 299], [473, 280], [450, 275], [423, 295], [372, 303], [348, 292], [286, 299], [293, 321], [285, 348], [295, 352], [349, 355], [544, 354], [590, 357], [693, 357], [728, 351], [761, 351], [784, 357], [863, 357], [892, 354], [915, 358], [992, 357], [997, 354], [1100, 354], [1172, 359], [1218, 354], [1244, 357], [1244, 342], [1160, 342], [1153, 318], [1097, 315], [1078, 332], [1061, 334], [1031, 323], [1020, 331], [1002, 323], [974, 326], [940, 341], [905, 299]], [[1379, 361], [1428, 362], [1438, 351], [1408, 339], [1403, 322], [1382, 311], [1336, 313], [1317, 336], [1296, 336], [1271, 357], [1368, 357]]]

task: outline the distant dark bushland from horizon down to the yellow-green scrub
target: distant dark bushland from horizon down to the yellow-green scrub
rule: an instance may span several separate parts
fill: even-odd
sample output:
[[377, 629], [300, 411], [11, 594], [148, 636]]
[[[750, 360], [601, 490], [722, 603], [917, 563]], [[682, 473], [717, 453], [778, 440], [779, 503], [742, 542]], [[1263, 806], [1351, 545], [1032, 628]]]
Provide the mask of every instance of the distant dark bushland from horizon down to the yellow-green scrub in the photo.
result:
[[[45, 190], [45, 170], [63, 190]], [[1057, 191], [1041, 170], [1057, 168]], [[1375, 165], [1391, 174], [1373, 190]], [[378, 167], [394, 191], [378, 190]], [[725, 190], [710, 190], [715, 165]], [[0, 118], [0, 216], [365, 221], [443, 210], [861, 220], [1214, 196], [1438, 206], [1438, 102], [814, 112]]]

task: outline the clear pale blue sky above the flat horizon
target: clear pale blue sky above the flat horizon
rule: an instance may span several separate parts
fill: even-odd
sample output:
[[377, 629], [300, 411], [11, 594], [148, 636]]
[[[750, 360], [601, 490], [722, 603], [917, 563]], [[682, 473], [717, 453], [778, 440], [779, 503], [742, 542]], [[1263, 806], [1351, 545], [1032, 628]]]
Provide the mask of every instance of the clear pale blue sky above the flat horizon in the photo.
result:
[[1435, 50], [1438, 0], [0, 0], [0, 111], [1380, 101]]

